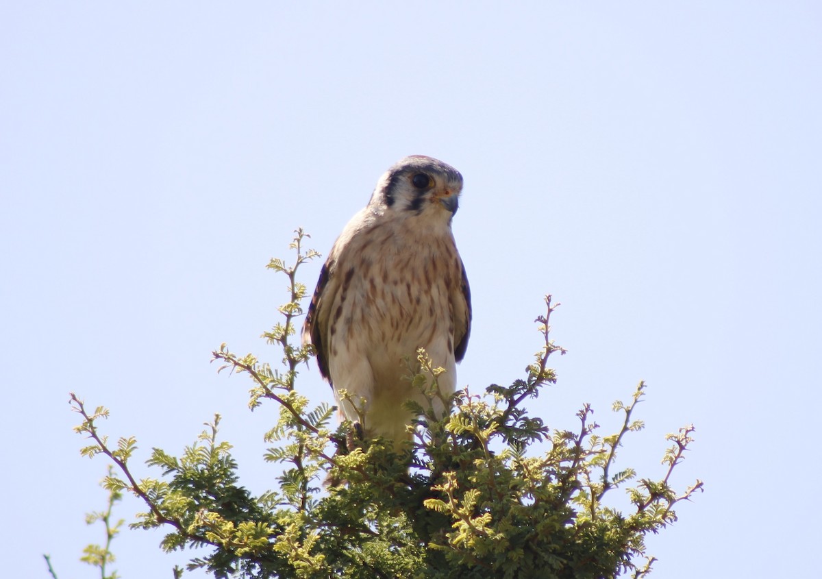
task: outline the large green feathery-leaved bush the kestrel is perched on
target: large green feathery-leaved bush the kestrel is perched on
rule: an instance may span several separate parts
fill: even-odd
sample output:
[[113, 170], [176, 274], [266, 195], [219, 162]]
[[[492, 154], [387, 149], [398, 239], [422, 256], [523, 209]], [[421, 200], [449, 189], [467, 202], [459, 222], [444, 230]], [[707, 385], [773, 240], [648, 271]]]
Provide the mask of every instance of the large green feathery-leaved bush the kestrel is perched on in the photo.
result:
[[[219, 415], [182, 455], [155, 448], [148, 465], [161, 474], [138, 480], [129, 463], [134, 438], [110, 446], [97, 426], [108, 410], [89, 413], [72, 394], [83, 419], [76, 430], [92, 441], [82, 454], [108, 456], [120, 475], [109, 473], [105, 487], [133, 493], [148, 507], [133, 528], [168, 529], [162, 544], [168, 551], [204, 548], [208, 554], [187, 568], [215, 577], [593, 578], [650, 571], [644, 536], [676, 521], [673, 507], [702, 488], [697, 480], [677, 493], [669, 484], [693, 427], [668, 435], [662, 479], [637, 479], [630, 468], [615, 472], [615, 464], [626, 434], [643, 427], [633, 417], [643, 382], [630, 402], [614, 405], [622, 416], [617, 433], [599, 434], [589, 405], [577, 413], [574, 430], [548, 428], [529, 415], [524, 401], [556, 382], [548, 357], [565, 354], [548, 337], [556, 308], [548, 296], [547, 313], [537, 318], [543, 345], [524, 378], [482, 395], [458, 391], [450, 414], [436, 415], [443, 370], [420, 350], [409, 360], [409, 379], [428, 403], [408, 403], [419, 415], [409, 426], [412, 442], [362, 440], [350, 423], [334, 429], [335, 409], [310, 409], [296, 389], [298, 368], [312, 355], [310, 346], [291, 343], [307, 294], [296, 273], [318, 255], [303, 252], [306, 237], [298, 230], [291, 244], [293, 266], [269, 264], [289, 279], [289, 302], [279, 308], [284, 320], [263, 335], [282, 351], [282, 367], [233, 354], [227, 345], [214, 352], [220, 370], [252, 379], [252, 410], [266, 401], [279, 405], [264, 456], [283, 465], [277, 489], [253, 496], [239, 485], [231, 445], [218, 439]], [[629, 512], [608, 506], [613, 489], [625, 490]]]

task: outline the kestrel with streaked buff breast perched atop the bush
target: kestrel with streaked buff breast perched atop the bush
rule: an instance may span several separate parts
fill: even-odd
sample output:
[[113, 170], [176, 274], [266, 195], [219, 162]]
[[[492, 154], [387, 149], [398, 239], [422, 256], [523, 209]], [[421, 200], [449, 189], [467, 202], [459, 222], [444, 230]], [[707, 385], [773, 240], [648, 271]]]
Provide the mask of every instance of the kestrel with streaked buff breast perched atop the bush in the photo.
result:
[[[455, 390], [455, 364], [471, 331], [468, 279], [451, 233], [462, 186], [459, 171], [440, 160], [399, 160], [320, 271], [302, 339], [313, 343], [335, 395], [344, 389], [353, 401], [365, 400], [363, 428], [371, 436], [408, 438], [413, 415], [404, 401], [427, 406], [408, 378], [406, 360], [418, 348], [446, 369], [438, 381], [443, 394]], [[337, 401], [358, 422], [351, 403]]]

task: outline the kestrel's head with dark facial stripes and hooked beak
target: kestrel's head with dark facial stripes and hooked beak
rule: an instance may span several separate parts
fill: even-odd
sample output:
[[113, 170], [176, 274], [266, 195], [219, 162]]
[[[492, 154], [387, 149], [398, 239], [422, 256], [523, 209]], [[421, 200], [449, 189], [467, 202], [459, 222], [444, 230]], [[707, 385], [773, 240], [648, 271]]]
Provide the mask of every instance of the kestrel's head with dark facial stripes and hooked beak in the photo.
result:
[[397, 161], [376, 183], [368, 206], [399, 215], [431, 215], [450, 221], [459, 206], [462, 175], [450, 164], [425, 155]]

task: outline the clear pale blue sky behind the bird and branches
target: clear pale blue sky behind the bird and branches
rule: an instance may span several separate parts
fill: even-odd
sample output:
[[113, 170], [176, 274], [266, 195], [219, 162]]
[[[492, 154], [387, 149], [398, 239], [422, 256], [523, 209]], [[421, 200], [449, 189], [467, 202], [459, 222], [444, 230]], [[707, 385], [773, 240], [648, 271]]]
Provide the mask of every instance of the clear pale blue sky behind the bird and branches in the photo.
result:
[[[289, 3], [290, 4], [290, 3]], [[277, 409], [217, 375], [259, 338], [304, 226], [327, 253], [409, 154], [464, 174], [455, 236], [474, 325], [458, 383], [523, 375], [543, 294], [562, 303], [556, 428], [649, 382], [618, 463], [704, 479], [649, 539], [653, 577], [811, 577], [820, 542], [822, 7], [818, 2], [3, 2], [0, 5], [2, 548], [15, 577], [95, 577], [102, 426], [180, 452], [213, 413], [242, 481]], [[304, 270], [313, 287], [320, 263]], [[312, 366], [301, 388], [330, 390]], [[117, 514], [143, 510], [127, 500]], [[125, 531], [122, 577], [171, 577]], [[9, 571], [11, 572], [11, 571]], [[192, 575], [201, 577], [201, 575]]]

